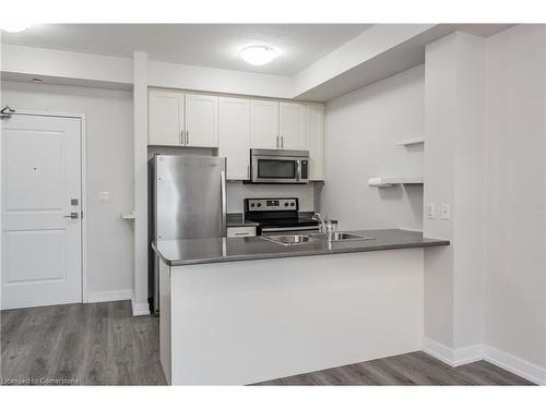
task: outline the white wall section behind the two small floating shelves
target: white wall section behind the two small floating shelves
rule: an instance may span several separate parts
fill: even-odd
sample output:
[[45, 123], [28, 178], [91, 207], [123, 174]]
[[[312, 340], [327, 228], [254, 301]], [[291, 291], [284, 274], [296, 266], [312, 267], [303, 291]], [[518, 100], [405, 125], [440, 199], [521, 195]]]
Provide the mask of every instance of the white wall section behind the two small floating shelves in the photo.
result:
[[423, 65], [344, 95], [327, 105], [325, 183], [320, 209], [340, 229], [423, 227], [423, 187], [370, 188], [376, 176], [423, 175]]

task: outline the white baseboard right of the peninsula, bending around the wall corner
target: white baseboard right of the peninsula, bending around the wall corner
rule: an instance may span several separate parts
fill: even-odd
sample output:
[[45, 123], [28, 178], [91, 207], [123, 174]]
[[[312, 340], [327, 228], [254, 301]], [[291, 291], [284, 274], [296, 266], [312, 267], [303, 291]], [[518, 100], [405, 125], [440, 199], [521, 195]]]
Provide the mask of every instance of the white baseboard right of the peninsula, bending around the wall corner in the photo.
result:
[[546, 385], [546, 368], [541, 368], [487, 345], [452, 349], [432, 339], [424, 338], [422, 350], [450, 366], [485, 360], [537, 385]]

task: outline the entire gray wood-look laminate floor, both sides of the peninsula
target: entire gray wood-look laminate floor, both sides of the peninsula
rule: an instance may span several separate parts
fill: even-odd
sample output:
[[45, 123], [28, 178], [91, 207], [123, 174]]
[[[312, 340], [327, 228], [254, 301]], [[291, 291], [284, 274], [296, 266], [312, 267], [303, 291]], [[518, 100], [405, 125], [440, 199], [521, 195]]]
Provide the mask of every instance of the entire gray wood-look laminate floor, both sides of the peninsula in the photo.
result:
[[[164, 385], [158, 318], [129, 301], [2, 311], [1, 382]], [[530, 385], [479, 361], [451, 368], [424, 353], [361, 362], [259, 385]]]

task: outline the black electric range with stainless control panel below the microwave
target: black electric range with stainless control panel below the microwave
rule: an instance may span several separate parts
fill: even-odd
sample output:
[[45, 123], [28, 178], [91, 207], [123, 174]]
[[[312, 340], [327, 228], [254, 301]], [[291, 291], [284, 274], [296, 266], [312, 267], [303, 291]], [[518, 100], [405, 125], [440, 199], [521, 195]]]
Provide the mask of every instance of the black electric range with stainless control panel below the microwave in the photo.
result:
[[319, 222], [299, 215], [297, 197], [245, 199], [245, 220], [258, 222], [258, 234], [319, 231]]

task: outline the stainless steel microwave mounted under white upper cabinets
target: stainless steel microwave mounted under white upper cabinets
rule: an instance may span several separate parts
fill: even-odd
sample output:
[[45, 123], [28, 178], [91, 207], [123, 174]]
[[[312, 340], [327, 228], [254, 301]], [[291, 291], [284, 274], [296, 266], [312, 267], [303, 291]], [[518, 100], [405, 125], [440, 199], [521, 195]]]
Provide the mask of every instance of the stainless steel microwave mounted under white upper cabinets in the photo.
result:
[[251, 183], [307, 183], [309, 152], [250, 149]]

